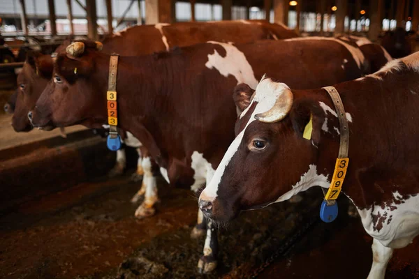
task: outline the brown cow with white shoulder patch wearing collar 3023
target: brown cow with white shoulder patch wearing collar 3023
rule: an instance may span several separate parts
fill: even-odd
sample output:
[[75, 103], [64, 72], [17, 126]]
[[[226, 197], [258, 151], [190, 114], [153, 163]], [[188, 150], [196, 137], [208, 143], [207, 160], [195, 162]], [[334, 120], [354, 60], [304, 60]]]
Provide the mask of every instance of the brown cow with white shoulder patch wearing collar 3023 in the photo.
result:
[[[109, 60], [91, 41], [74, 43], [60, 53], [53, 80], [30, 114], [32, 124], [94, 128], [106, 123]], [[295, 88], [314, 88], [360, 77], [362, 60], [357, 47], [322, 38], [244, 45], [210, 42], [147, 56], [120, 56], [118, 125], [147, 147], [170, 184], [191, 186], [198, 193], [234, 138], [241, 112], [231, 99], [235, 85], [247, 82], [256, 87], [269, 69], [270, 75]], [[216, 267], [216, 227], [206, 224], [201, 213], [194, 230], [205, 228], [198, 268], [207, 273]]]

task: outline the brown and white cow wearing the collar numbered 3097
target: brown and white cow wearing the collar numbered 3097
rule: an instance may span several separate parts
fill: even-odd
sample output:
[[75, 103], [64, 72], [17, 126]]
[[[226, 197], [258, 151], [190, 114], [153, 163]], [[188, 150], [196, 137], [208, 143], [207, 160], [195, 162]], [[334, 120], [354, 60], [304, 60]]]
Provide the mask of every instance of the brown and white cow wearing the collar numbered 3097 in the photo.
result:
[[[384, 278], [392, 250], [419, 234], [419, 52], [335, 88], [349, 126], [343, 191], [374, 238], [368, 278]], [[240, 91], [247, 107], [237, 136], [200, 195], [200, 208], [213, 220], [313, 186], [329, 188], [339, 152], [339, 121], [325, 89], [293, 90], [264, 78], [256, 91], [245, 85]]]

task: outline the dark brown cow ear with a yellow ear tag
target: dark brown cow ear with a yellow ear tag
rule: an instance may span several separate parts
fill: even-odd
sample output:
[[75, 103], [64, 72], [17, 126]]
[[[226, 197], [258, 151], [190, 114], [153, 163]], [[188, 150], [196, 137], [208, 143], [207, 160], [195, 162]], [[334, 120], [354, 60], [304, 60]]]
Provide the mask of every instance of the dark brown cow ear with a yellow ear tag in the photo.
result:
[[321, 107], [308, 100], [296, 101], [293, 103], [290, 116], [297, 135], [318, 146], [321, 140], [321, 127], [325, 121]]

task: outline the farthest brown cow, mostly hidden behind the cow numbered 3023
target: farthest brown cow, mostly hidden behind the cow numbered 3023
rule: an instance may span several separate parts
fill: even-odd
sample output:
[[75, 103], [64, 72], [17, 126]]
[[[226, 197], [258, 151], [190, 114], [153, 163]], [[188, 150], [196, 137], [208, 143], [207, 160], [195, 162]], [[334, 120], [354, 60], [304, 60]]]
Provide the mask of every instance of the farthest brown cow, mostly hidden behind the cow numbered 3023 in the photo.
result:
[[[207, 40], [219, 40], [222, 42], [249, 43], [259, 39], [293, 38], [295, 31], [282, 25], [270, 24], [264, 20], [240, 20], [221, 22], [183, 22], [176, 24], [154, 24], [131, 27], [124, 31], [108, 36], [103, 41], [103, 52], [111, 54], [117, 52], [121, 55], [152, 54], [168, 50], [175, 46], [193, 45], [205, 43]], [[70, 42], [66, 42], [57, 49], [59, 52]], [[29, 131], [32, 129], [27, 118], [29, 110], [35, 106], [36, 100], [45, 89], [47, 80], [51, 79], [53, 58], [50, 55], [30, 54], [27, 63], [22, 68], [22, 73], [17, 77], [17, 105], [13, 115], [13, 128], [16, 131]], [[37, 75], [37, 72], [39, 75]], [[12, 99], [8, 102], [14, 106]], [[50, 128], [44, 128], [44, 130]], [[131, 202], [135, 203], [144, 195], [144, 202], [135, 210], [137, 218], [145, 218], [155, 213], [154, 203], [157, 200], [155, 163], [147, 157], [149, 153], [131, 133], [122, 131], [126, 145], [134, 147], [138, 151], [137, 171], [133, 174], [133, 181], [143, 179], [140, 190], [135, 193]], [[143, 160], [146, 159], [146, 160]], [[122, 174], [126, 167], [124, 150], [117, 151], [117, 163], [110, 171], [110, 176]], [[154, 174], [154, 175], [153, 175]], [[193, 234], [193, 236], [198, 236]]]

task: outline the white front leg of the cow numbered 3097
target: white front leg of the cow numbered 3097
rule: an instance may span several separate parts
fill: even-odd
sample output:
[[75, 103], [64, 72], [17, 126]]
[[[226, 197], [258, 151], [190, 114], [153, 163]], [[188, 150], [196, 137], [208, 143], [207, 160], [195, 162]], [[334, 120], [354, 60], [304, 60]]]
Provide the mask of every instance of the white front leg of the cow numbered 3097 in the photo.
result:
[[383, 246], [380, 241], [372, 242], [372, 266], [367, 279], [384, 279], [385, 269], [392, 256], [392, 248]]

